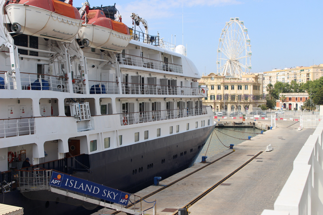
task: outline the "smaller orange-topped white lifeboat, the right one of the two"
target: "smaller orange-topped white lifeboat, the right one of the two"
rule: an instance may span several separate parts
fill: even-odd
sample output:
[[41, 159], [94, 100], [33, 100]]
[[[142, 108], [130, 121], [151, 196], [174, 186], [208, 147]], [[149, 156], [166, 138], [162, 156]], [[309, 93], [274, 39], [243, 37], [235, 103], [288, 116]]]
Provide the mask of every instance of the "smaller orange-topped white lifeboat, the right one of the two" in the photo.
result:
[[114, 52], [122, 52], [128, 46], [131, 35], [124, 23], [106, 18], [102, 10], [90, 10], [88, 20], [79, 29], [83, 46]]

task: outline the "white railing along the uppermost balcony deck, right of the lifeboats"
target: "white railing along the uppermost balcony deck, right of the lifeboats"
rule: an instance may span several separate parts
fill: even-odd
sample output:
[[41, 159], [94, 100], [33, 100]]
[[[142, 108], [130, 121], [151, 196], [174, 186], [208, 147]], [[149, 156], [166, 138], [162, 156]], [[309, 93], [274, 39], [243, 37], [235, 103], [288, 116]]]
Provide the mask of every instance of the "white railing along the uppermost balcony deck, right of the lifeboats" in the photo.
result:
[[121, 54], [117, 57], [117, 61], [120, 65], [137, 66], [147, 69], [157, 69], [160, 71], [183, 73], [182, 65], [138, 57], [135, 55]]

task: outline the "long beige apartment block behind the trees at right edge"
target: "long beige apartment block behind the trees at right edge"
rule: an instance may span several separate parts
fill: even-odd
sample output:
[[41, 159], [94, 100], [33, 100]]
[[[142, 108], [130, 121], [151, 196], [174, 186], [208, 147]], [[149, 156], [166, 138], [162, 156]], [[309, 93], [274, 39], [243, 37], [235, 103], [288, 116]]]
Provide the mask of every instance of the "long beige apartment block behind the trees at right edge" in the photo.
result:
[[267, 93], [266, 87], [269, 83], [272, 85], [278, 81], [290, 83], [292, 80], [295, 80], [297, 83], [306, 83], [308, 80], [316, 80], [321, 76], [323, 76], [323, 64], [273, 69], [272, 71], [264, 72], [263, 91]]

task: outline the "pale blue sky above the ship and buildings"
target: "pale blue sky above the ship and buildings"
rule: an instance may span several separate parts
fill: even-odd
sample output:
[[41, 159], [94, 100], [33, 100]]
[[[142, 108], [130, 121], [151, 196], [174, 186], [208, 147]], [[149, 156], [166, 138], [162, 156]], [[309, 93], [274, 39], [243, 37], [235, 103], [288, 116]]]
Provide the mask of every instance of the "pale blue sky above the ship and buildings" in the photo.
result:
[[[91, 7], [114, 4], [88, 1]], [[73, 6], [82, 2], [74, 0]], [[323, 63], [322, 0], [127, 0], [116, 2], [116, 8], [129, 27], [134, 12], [148, 22], [150, 35], [158, 31], [171, 42], [173, 34], [173, 43], [176, 35], [176, 45], [183, 44], [183, 10], [184, 46], [200, 74], [217, 72], [220, 34], [231, 17], [239, 17], [248, 28], [251, 72]]]

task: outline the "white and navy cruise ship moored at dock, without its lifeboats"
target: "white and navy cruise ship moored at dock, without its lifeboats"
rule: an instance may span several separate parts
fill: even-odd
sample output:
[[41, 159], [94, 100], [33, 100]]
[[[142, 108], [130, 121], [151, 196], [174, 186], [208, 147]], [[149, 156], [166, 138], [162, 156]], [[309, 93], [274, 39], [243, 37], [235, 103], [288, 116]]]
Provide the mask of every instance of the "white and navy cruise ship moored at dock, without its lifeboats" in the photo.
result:
[[[80, 33], [68, 39], [31, 30], [24, 34], [19, 30], [26, 33], [32, 26], [13, 23], [21, 17], [11, 16], [14, 10], [32, 7], [26, 7], [27, 2], [4, 4], [0, 12], [3, 180], [29, 157], [34, 167], [133, 191], [149, 185], [154, 176], [168, 177], [192, 165], [214, 121], [211, 107], [202, 106], [208, 89], [198, 88], [199, 73], [191, 60], [159, 35], [135, 30], [129, 36], [109, 32], [110, 44], [87, 41]], [[37, 10], [28, 13], [36, 16]], [[55, 19], [54, 13], [49, 16]], [[64, 22], [77, 24], [64, 18], [60, 24]], [[96, 26], [83, 22], [79, 29], [87, 27]]]

